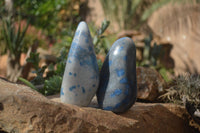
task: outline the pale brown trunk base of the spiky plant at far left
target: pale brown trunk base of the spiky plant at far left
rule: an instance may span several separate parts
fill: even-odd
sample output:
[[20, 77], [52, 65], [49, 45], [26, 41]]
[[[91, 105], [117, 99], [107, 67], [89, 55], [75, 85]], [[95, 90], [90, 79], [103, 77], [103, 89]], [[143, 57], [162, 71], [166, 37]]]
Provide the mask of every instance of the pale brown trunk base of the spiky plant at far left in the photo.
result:
[[20, 55], [14, 56], [10, 52], [8, 52], [7, 59], [7, 79], [16, 82], [18, 77], [22, 73], [22, 67], [20, 65]]

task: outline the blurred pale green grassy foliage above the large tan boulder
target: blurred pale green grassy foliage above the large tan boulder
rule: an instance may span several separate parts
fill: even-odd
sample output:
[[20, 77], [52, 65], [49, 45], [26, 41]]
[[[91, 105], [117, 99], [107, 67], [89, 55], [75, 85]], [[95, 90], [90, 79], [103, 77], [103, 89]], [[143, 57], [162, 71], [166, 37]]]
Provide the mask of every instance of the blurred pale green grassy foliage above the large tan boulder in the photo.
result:
[[140, 27], [158, 8], [172, 3], [199, 3], [199, 0], [100, 0], [105, 15], [120, 29]]

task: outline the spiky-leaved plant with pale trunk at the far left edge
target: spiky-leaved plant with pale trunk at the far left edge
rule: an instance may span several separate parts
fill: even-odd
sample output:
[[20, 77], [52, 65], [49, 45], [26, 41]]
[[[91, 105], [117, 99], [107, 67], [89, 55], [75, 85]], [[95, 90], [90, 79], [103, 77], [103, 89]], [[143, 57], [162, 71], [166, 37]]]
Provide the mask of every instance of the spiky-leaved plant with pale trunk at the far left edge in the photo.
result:
[[20, 64], [21, 54], [28, 50], [28, 46], [24, 43], [24, 38], [29, 26], [29, 21], [22, 27], [21, 18], [14, 19], [13, 3], [11, 1], [2, 1], [0, 5], [1, 35], [0, 45], [2, 46], [1, 54], [8, 54], [7, 73], [8, 80], [16, 82], [18, 76], [21, 75], [23, 66]]

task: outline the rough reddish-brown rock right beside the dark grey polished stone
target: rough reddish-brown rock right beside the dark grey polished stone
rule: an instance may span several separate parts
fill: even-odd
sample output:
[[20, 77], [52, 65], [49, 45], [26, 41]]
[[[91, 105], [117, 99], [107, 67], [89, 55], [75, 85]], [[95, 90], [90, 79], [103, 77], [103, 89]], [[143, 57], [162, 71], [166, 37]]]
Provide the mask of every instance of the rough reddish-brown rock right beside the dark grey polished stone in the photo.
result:
[[154, 101], [164, 92], [165, 81], [161, 75], [152, 68], [137, 67], [137, 98]]

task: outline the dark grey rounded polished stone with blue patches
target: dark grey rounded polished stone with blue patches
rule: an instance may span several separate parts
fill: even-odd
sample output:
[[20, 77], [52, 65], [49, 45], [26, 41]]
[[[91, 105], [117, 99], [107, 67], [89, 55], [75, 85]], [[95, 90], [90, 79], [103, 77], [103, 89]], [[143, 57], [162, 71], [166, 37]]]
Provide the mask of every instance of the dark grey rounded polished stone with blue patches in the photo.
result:
[[100, 72], [97, 100], [100, 108], [115, 113], [128, 110], [136, 101], [136, 49], [131, 38], [117, 40]]

